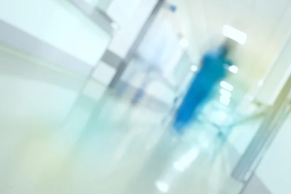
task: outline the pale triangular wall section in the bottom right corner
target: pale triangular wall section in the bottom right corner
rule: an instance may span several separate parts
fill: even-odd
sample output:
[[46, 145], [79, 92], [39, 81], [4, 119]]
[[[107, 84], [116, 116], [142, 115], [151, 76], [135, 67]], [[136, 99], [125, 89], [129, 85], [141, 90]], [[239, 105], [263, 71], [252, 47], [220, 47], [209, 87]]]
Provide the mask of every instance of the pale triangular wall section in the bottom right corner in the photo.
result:
[[291, 193], [291, 114], [283, 124], [256, 171], [272, 194]]

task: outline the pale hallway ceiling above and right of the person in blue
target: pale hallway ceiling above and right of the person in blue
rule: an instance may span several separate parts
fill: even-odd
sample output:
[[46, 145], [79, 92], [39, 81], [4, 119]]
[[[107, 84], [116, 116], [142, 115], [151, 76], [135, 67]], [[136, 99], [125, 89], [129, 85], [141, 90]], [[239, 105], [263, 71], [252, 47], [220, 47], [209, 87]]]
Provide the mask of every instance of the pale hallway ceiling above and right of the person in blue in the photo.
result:
[[291, 29], [290, 0], [170, 0], [178, 6], [181, 32], [190, 41], [194, 62], [223, 39], [225, 24], [245, 32], [247, 42], [231, 54], [238, 75], [232, 79], [256, 87]]

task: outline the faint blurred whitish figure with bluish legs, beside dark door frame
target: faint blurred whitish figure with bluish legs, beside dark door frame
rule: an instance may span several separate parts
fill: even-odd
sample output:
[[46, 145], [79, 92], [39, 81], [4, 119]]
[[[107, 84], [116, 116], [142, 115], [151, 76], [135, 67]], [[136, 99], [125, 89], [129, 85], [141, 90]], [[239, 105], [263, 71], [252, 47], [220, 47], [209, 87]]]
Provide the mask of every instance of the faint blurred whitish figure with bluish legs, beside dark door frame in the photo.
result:
[[139, 82], [142, 78], [131, 103], [138, 103], [146, 94], [149, 84], [157, 77], [161, 77], [164, 66], [168, 64], [178, 42], [177, 34], [173, 31], [171, 22], [164, 17], [159, 18], [147, 32], [139, 46], [135, 63], [129, 66], [124, 75], [124, 83], [117, 88], [117, 95], [123, 95], [130, 83]]

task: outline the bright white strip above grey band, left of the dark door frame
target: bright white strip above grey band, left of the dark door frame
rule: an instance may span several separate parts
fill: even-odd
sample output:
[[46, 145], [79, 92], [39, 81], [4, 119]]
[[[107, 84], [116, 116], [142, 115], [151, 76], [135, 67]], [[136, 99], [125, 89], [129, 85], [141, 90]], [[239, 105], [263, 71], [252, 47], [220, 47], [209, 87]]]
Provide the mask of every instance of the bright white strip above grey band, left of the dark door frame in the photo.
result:
[[141, 0], [129, 20], [114, 34], [109, 50], [124, 58], [156, 3], [157, 0]]

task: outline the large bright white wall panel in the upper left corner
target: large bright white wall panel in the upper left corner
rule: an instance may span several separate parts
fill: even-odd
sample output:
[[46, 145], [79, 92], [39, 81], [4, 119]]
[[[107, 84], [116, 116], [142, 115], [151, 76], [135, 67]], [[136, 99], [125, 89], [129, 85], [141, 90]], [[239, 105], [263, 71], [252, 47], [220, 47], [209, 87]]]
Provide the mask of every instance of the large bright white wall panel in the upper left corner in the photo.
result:
[[90, 65], [97, 64], [110, 41], [68, 0], [0, 0], [0, 4], [2, 20]]

